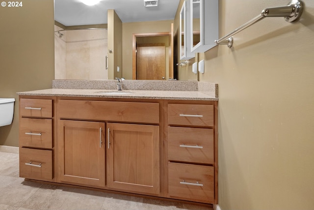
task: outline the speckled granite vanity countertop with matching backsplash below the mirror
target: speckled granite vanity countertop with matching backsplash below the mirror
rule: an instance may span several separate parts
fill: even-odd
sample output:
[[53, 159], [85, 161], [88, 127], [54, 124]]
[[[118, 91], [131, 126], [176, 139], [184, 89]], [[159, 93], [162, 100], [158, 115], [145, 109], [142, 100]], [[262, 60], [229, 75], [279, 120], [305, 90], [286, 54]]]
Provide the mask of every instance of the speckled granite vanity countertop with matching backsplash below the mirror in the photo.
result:
[[123, 90], [117, 91], [115, 80], [53, 80], [52, 89], [18, 92], [18, 95], [218, 100], [218, 86], [197, 81], [123, 81]]

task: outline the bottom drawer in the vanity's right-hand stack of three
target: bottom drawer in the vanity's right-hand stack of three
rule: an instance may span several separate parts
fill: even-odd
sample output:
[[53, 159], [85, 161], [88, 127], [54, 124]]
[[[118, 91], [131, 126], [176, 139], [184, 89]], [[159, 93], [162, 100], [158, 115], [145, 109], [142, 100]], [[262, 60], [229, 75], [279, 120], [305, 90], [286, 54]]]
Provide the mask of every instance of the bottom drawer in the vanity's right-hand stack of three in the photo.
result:
[[214, 168], [212, 166], [169, 163], [168, 169], [170, 197], [203, 203], [214, 202]]

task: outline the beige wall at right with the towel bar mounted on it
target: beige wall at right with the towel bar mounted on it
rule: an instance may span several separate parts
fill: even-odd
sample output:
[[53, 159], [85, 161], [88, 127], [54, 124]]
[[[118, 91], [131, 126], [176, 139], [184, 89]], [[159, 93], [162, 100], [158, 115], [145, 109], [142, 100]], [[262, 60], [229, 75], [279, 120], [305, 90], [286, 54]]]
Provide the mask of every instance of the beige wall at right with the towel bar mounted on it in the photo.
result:
[[[220, 36], [287, 0], [222, 0]], [[205, 54], [219, 84], [221, 210], [314, 209], [314, 1], [302, 19], [266, 18]]]

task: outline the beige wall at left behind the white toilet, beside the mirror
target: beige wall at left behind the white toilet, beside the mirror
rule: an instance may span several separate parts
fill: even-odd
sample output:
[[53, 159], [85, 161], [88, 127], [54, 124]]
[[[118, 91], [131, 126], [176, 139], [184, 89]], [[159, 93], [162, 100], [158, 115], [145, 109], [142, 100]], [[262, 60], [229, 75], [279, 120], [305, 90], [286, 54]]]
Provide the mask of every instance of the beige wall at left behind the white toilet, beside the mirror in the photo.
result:
[[0, 145], [19, 145], [16, 92], [52, 88], [53, 25], [53, 0], [0, 6], [0, 97], [16, 99], [13, 123], [0, 127]]

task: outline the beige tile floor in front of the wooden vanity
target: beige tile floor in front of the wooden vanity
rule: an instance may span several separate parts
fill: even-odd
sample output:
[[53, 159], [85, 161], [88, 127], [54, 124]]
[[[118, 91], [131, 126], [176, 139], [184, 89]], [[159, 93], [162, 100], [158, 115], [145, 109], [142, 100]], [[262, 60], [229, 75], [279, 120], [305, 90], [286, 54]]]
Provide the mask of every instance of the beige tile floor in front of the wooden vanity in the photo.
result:
[[0, 210], [212, 210], [170, 201], [25, 181], [19, 154], [0, 152]]

